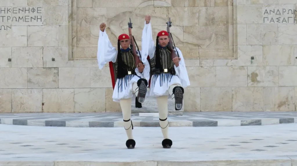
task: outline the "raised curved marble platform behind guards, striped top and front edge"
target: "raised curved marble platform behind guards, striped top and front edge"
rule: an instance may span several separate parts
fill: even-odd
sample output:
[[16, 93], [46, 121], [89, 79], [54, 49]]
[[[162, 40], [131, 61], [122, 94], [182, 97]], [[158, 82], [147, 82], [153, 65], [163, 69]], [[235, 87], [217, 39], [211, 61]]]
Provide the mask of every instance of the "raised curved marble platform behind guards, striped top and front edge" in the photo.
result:
[[[133, 113], [133, 126], [159, 127], [158, 113]], [[172, 127], [253, 126], [297, 123], [297, 112], [184, 112], [169, 115]], [[123, 127], [121, 113], [2, 113], [1, 124], [60, 127]]]

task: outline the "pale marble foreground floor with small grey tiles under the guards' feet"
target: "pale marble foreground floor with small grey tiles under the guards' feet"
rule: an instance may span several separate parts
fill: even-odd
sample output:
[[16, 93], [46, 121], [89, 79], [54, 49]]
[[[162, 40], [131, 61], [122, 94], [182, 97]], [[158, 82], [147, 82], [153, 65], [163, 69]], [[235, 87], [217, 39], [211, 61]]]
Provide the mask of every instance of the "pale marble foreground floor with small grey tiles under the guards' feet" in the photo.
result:
[[171, 149], [162, 148], [160, 128], [137, 127], [133, 136], [136, 147], [127, 149], [124, 128], [0, 124], [0, 165], [297, 166], [296, 123], [170, 127]]

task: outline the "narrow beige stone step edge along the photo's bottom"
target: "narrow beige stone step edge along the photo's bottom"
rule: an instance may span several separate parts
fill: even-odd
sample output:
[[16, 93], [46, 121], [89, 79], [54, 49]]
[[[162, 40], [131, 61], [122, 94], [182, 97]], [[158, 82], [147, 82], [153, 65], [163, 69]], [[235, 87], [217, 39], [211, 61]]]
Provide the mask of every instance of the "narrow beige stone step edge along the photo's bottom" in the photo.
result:
[[282, 157], [268, 160], [211, 160], [211, 161], [135, 161], [135, 162], [99, 162], [99, 161], [0, 161], [1, 166], [297, 166], [297, 159]]

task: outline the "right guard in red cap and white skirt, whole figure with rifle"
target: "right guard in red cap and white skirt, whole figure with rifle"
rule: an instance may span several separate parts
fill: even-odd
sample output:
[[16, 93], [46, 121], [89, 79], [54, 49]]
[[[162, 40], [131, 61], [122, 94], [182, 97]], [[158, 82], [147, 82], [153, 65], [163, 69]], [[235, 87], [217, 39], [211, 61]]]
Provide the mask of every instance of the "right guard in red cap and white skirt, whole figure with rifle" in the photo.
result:
[[[181, 110], [184, 87], [190, 85], [186, 65], [181, 51], [173, 47], [170, 33], [171, 22], [167, 22], [167, 31], [160, 31], [156, 45], [152, 37], [151, 17], [145, 17], [142, 32], [142, 62], [147, 59], [150, 65], [149, 95], [157, 98], [159, 125], [163, 134], [163, 148], [171, 148], [172, 140], [168, 137], [168, 95], [175, 100], [175, 109]], [[149, 57], [148, 57], [149, 56]]]

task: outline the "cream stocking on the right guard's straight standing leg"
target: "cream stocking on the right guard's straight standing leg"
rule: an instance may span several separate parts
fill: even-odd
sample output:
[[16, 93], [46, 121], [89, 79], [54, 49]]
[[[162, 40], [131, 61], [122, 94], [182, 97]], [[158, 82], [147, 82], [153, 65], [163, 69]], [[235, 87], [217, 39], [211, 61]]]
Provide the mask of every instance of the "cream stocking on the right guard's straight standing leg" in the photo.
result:
[[[165, 96], [159, 96], [157, 97], [157, 104], [158, 104], [158, 110], [159, 110], [159, 118], [164, 120], [168, 116], [168, 95]], [[168, 119], [165, 121], [159, 120], [159, 124], [162, 130], [162, 134], [164, 139], [168, 138]]]

